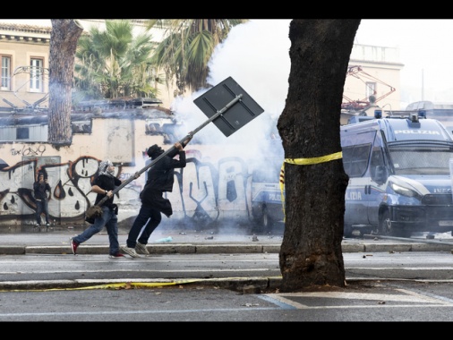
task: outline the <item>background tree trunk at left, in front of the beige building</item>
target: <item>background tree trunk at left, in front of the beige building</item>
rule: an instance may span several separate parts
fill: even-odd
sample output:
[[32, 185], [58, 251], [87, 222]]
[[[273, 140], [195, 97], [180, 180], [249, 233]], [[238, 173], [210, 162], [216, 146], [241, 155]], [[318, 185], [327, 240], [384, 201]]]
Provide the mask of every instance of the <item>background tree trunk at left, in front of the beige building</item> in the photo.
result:
[[52, 19], [51, 22], [47, 141], [52, 144], [71, 145], [74, 55], [83, 28], [73, 19]]

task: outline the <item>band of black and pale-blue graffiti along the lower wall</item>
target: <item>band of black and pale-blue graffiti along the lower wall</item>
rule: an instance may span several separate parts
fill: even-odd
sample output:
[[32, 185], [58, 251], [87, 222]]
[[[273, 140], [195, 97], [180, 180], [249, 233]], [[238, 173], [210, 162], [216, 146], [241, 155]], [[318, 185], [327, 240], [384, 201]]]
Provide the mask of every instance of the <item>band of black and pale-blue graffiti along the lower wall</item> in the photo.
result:
[[[217, 165], [201, 162], [197, 154], [188, 155], [187, 166], [175, 170], [173, 191], [167, 192], [174, 214], [171, 223], [184, 225], [237, 225], [251, 219], [251, 175], [240, 157], [225, 157]], [[57, 224], [83, 223], [84, 213], [94, 204], [96, 193], [91, 185], [98, 174], [100, 160], [90, 156], [73, 161], [38, 166], [38, 157], [30, 157], [13, 166], [0, 168], [0, 226], [32, 225], [36, 203], [32, 183], [38, 172], [48, 177], [52, 189], [49, 214]], [[120, 165], [115, 175], [125, 180]], [[145, 174], [141, 174], [144, 176]], [[135, 217], [140, 208], [139, 194], [144, 178], [134, 180], [116, 193], [120, 207], [118, 221]]]

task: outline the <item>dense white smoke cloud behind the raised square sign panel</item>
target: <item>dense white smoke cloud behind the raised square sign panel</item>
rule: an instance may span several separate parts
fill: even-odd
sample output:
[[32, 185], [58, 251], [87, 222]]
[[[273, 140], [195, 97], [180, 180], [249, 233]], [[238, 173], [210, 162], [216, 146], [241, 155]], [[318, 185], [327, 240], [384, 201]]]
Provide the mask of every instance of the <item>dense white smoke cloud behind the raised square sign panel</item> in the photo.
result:
[[[252, 20], [237, 25], [211, 56], [208, 83], [216, 86], [232, 77], [264, 109], [261, 115], [229, 137], [214, 123], [196, 134], [202, 144], [225, 144], [227, 148], [222, 157], [247, 159], [282, 153], [281, 142], [273, 142], [276, 147], [270, 147], [268, 141], [272, 135], [279, 140], [277, 120], [285, 107], [291, 64], [289, 23], [290, 20]], [[172, 103], [176, 119], [184, 122], [183, 134], [208, 119], [193, 103], [207, 90], [177, 98]]]

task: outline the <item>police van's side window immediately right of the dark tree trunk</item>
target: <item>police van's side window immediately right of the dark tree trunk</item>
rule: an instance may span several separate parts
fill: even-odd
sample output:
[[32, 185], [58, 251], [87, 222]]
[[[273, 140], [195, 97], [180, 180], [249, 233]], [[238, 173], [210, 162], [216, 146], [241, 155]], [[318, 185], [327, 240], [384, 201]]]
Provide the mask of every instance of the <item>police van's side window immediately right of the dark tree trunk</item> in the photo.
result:
[[349, 177], [362, 177], [365, 174], [371, 149], [371, 143], [353, 145], [342, 149], [343, 167]]

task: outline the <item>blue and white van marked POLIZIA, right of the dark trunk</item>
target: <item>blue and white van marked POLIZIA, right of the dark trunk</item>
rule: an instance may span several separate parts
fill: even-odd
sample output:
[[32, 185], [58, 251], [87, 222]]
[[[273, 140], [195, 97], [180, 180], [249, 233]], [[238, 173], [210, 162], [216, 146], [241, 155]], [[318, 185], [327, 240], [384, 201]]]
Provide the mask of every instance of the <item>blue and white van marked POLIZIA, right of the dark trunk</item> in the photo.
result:
[[423, 111], [353, 118], [340, 128], [345, 236], [453, 232], [453, 139], [444, 125]]

